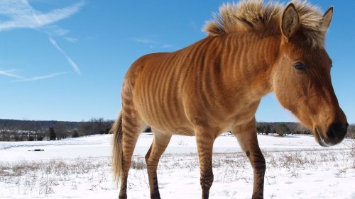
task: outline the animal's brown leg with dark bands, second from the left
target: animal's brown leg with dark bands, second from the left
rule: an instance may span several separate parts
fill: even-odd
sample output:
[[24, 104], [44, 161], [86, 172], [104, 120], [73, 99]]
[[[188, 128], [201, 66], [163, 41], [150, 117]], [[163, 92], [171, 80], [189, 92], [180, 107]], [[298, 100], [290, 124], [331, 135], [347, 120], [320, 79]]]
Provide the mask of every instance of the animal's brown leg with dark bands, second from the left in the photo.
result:
[[165, 135], [163, 132], [152, 129], [153, 143], [148, 153], [146, 154], [146, 163], [148, 169], [149, 188], [151, 189], [151, 198], [160, 199], [158, 178], [156, 170], [159, 159], [170, 142], [171, 135]]

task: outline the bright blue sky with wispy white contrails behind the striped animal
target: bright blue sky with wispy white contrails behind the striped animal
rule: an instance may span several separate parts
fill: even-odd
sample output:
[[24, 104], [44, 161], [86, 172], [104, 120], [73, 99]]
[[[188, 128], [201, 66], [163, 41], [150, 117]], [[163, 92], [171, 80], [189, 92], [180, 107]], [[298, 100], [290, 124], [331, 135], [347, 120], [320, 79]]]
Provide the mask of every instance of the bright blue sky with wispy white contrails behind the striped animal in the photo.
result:
[[[1, 0], [0, 118], [116, 118], [131, 63], [203, 39], [204, 22], [224, 2]], [[334, 6], [327, 33], [332, 81], [355, 123], [355, 1], [310, 2], [322, 11]], [[273, 94], [263, 98], [256, 119], [297, 121]]]

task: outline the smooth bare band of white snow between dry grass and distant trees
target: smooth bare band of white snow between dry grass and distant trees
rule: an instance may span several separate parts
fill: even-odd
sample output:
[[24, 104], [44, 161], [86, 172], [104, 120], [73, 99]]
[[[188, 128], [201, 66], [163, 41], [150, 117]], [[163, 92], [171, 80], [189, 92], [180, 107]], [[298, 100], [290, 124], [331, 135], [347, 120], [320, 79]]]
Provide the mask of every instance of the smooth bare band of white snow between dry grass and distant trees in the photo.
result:
[[[135, 155], [144, 156], [151, 147], [153, 137], [142, 134], [136, 144]], [[312, 136], [287, 135], [275, 137], [258, 135], [258, 142], [264, 152], [294, 150], [324, 150], [349, 148], [351, 140], [344, 140], [331, 148], [321, 147]], [[28, 150], [44, 149], [44, 152]], [[170, 140], [165, 154], [196, 153], [195, 137], [174, 135]], [[222, 135], [214, 142], [215, 153], [241, 152], [238, 142], [233, 136]], [[1, 161], [44, 160], [44, 159], [75, 159], [88, 157], [109, 157], [111, 155], [111, 135], [94, 135], [91, 137], [68, 138], [57, 141], [36, 142], [0, 142]]]

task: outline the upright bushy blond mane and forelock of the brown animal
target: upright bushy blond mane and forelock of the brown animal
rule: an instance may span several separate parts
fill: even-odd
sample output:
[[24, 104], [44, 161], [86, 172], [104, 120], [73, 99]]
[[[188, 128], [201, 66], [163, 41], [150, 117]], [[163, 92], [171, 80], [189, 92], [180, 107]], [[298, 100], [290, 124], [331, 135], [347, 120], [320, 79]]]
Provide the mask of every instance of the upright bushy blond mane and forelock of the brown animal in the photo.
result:
[[[324, 46], [324, 35], [327, 28], [322, 25], [323, 15], [320, 8], [307, 1], [293, 0], [300, 17], [300, 33], [313, 47]], [[245, 31], [267, 30], [268, 33], [280, 34], [280, 19], [285, 6], [263, 0], [243, 0], [238, 4], [223, 4], [219, 14], [207, 21], [204, 31], [208, 35], [217, 36]]]

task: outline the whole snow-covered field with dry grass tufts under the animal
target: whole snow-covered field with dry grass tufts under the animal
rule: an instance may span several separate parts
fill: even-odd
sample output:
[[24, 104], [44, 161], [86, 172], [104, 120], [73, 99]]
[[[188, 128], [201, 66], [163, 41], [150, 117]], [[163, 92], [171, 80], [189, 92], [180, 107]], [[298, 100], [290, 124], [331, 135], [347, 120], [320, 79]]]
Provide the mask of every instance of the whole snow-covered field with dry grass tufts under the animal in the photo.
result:
[[[355, 142], [331, 148], [314, 137], [258, 136], [266, 157], [265, 198], [355, 199]], [[141, 135], [129, 174], [129, 198], [149, 198], [144, 155], [152, 141]], [[118, 198], [111, 174], [111, 135], [60, 141], [0, 142], [0, 198]], [[34, 151], [42, 149], [43, 151]], [[160, 159], [162, 198], [200, 198], [195, 137], [173, 136]], [[253, 172], [229, 135], [214, 144], [210, 198], [251, 198]]]

